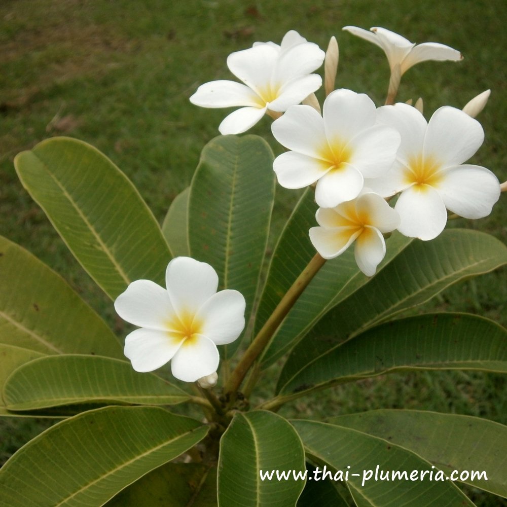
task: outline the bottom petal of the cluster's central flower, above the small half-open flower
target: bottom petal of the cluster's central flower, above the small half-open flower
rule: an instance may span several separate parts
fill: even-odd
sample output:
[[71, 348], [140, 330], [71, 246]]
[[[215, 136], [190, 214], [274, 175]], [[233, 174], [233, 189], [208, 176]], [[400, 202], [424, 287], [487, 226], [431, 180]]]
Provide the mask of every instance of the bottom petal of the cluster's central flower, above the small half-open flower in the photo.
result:
[[315, 188], [315, 201], [321, 208], [334, 208], [355, 199], [363, 188], [363, 175], [353, 166], [344, 164], [339, 170], [324, 174]]

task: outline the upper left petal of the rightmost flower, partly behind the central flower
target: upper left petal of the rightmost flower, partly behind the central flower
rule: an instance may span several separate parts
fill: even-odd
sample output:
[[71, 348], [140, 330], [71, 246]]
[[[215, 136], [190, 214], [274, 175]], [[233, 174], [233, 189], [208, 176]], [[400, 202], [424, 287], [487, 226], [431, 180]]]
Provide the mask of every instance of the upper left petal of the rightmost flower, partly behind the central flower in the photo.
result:
[[404, 103], [384, 105], [377, 110], [377, 121], [400, 132], [402, 140], [397, 158], [408, 162], [422, 153], [428, 124], [415, 107]]

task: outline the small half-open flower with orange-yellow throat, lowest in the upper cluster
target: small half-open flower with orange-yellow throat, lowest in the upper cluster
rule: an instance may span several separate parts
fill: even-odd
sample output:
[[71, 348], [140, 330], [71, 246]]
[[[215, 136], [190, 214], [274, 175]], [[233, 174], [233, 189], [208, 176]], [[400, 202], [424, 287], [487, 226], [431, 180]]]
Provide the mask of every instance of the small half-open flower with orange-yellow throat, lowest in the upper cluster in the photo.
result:
[[385, 256], [382, 233], [394, 231], [400, 216], [378, 194], [365, 191], [354, 200], [334, 208], [319, 208], [315, 215], [320, 227], [310, 229], [310, 240], [324, 259], [333, 259], [355, 242], [357, 266], [373, 276]]

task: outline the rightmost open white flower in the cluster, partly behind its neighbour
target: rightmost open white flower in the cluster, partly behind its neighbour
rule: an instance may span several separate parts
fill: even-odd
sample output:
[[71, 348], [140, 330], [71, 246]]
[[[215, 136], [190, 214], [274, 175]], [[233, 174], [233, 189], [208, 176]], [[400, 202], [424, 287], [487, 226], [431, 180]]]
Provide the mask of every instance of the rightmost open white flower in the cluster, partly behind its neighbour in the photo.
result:
[[400, 213], [402, 234], [437, 237], [447, 222], [446, 208], [468, 219], [491, 212], [500, 196], [497, 177], [485, 167], [463, 164], [484, 140], [477, 120], [444, 106], [427, 123], [403, 103], [380, 107], [378, 120], [397, 128], [402, 143], [386, 177], [366, 184], [384, 197], [401, 192], [394, 209]]

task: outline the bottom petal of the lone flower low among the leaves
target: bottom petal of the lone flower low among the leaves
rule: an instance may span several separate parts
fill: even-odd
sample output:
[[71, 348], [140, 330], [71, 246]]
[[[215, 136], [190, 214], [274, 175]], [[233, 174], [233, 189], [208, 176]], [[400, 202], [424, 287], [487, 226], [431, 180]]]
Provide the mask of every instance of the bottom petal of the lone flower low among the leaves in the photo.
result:
[[218, 369], [220, 354], [205, 336], [194, 335], [178, 349], [171, 361], [171, 372], [179, 380], [195, 382]]

